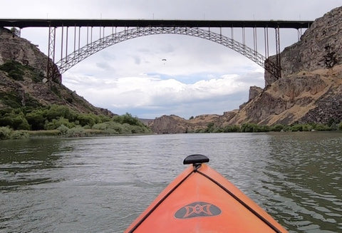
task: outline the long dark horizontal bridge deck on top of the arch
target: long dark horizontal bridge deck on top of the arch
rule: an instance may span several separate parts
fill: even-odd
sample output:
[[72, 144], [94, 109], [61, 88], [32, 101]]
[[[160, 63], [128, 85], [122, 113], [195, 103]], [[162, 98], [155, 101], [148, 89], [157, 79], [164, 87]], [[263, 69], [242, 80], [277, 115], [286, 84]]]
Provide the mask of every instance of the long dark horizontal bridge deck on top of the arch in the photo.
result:
[[0, 27], [61, 27], [61, 26], [118, 26], [118, 27], [212, 27], [212, 28], [280, 28], [307, 29], [313, 21], [227, 21], [227, 20], [167, 20], [167, 19], [0, 19]]

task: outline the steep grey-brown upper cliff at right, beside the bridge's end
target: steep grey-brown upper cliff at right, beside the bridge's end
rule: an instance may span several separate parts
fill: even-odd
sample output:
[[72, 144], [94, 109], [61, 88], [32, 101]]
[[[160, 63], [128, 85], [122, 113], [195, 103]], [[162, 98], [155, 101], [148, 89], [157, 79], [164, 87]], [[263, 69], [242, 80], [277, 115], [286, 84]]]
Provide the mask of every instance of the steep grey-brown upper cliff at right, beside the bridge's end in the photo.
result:
[[[318, 18], [301, 40], [281, 52], [281, 76], [286, 78], [300, 71], [328, 69], [342, 63], [342, 7]], [[269, 60], [276, 62], [276, 57]], [[265, 73], [265, 86], [274, 83]]]

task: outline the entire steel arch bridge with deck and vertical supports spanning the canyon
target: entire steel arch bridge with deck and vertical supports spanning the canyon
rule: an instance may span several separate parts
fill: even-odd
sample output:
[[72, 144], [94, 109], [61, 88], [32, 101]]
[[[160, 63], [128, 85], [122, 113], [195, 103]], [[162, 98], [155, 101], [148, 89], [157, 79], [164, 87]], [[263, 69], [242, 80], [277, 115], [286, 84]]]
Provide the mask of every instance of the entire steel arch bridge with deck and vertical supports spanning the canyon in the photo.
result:
[[[83, 59], [115, 43], [157, 34], [196, 36], [219, 43], [246, 56], [275, 78], [280, 78], [280, 31], [296, 29], [298, 38], [300, 38], [302, 29], [308, 29], [312, 23], [313, 21], [273, 20], [0, 19], [0, 27], [10, 27], [14, 31], [19, 31], [19, 35], [20, 30], [24, 28], [48, 28], [47, 78], [60, 76]], [[229, 35], [222, 33], [222, 29]], [[227, 29], [229, 33], [227, 33]], [[274, 30], [272, 33], [275, 37], [274, 43], [269, 41], [270, 29]], [[247, 30], [252, 30], [252, 33], [248, 34], [248, 37], [252, 35], [252, 38], [248, 39], [253, 41], [251, 43], [253, 48], [247, 45]], [[258, 36], [258, 33], [261, 36]], [[258, 41], [260, 40], [263, 43], [263, 52], [258, 51]], [[271, 46], [275, 46], [276, 62], [267, 59]], [[60, 51], [57, 51], [57, 47]], [[60, 54], [59, 60], [57, 54]]]

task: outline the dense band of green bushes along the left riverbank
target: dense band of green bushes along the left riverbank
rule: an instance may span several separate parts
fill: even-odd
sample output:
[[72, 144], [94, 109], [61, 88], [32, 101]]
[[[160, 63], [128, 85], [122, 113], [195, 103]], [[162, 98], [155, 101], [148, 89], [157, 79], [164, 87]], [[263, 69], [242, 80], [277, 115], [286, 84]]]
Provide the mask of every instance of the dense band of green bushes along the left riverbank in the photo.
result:
[[26, 110], [0, 110], [0, 139], [30, 136], [85, 137], [92, 135], [152, 133], [138, 118], [125, 115], [95, 115], [76, 113], [63, 105]]

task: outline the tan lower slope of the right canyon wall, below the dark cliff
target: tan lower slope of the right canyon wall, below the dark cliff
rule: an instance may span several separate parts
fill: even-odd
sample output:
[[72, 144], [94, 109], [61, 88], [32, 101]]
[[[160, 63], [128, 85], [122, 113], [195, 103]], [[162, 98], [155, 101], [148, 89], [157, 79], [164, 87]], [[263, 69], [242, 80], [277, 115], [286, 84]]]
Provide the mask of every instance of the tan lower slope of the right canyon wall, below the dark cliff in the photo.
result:
[[341, 71], [342, 67], [336, 66], [329, 71], [306, 71], [281, 78], [244, 105], [228, 124], [290, 125], [328, 123], [331, 119], [341, 121]]

